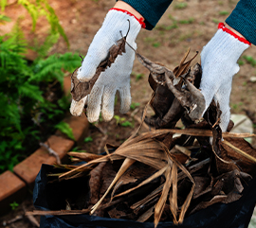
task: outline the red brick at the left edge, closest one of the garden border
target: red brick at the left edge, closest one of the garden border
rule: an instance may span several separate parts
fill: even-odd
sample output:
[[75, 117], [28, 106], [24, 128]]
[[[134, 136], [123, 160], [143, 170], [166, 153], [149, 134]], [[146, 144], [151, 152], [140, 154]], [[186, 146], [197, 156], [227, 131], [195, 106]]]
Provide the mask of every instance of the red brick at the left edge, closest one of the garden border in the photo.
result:
[[0, 215], [9, 212], [11, 202], [22, 202], [26, 196], [26, 184], [15, 174], [6, 171], [0, 175]]

